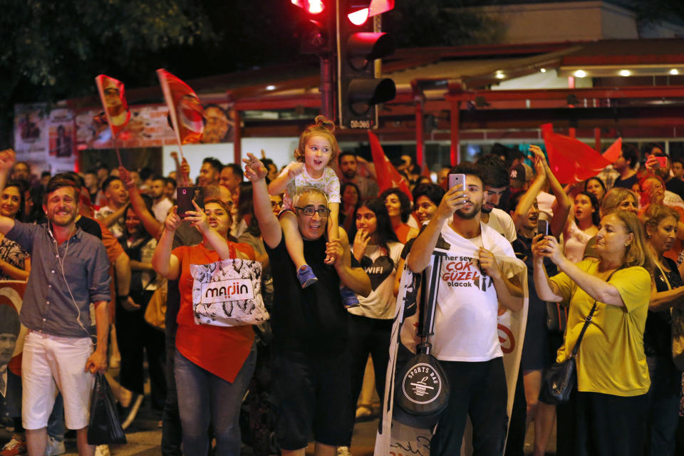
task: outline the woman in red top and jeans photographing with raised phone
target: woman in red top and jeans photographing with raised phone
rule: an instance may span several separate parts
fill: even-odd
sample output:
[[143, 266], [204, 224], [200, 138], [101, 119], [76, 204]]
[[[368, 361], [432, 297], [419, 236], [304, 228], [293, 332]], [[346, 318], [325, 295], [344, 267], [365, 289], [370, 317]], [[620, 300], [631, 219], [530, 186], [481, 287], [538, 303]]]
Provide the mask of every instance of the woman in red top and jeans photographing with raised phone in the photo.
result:
[[[190, 264], [209, 264], [236, 257], [254, 259], [254, 251], [249, 246], [227, 242], [232, 219], [222, 201], [211, 199], [204, 203], [204, 212], [197, 209], [188, 212], [185, 220], [202, 233], [202, 244], [171, 251], [174, 232], [181, 222], [174, 207], [152, 257], [158, 274], [179, 279], [174, 372], [183, 451], [185, 455], [206, 456], [211, 423], [216, 454], [239, 455], [239, 408], [257, 359], [254, 331], [251, 326], [227, 328], [195, 324]], [[251, 252], [251, 256], [245, 252]]]

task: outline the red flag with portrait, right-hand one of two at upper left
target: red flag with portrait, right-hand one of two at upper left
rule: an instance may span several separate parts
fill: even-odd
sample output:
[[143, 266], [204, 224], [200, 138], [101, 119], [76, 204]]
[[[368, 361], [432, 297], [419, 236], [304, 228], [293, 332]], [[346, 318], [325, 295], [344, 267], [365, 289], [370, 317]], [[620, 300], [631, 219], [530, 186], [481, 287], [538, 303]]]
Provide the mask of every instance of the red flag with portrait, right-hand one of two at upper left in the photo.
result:
[[157, 70], [171, 126], [180, 145], [199, 142], [204, 132], [204, 108], [190, 86], [164, 69]]

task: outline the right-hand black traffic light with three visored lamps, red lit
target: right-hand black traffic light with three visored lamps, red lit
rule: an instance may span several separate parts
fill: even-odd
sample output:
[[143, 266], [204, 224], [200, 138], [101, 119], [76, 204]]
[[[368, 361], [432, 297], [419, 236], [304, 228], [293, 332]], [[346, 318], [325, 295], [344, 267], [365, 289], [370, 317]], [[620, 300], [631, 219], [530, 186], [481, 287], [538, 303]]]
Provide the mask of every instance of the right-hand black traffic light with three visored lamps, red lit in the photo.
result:
[[394, 7], [393, 0], [338, 0], [337, 101], [342, 128], [373, 128], [375, 105], [396, 95], [394, 81], [376, 78], [375, 60], [394, 52], [394, 39], [373, 30], [372, 16]]

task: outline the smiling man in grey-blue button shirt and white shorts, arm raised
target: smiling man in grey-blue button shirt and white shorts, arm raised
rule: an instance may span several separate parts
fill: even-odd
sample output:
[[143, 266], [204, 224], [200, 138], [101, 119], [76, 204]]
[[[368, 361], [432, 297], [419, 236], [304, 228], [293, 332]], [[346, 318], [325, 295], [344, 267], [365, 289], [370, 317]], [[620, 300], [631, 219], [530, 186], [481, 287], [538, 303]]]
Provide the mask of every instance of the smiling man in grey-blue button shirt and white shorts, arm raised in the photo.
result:
[[[12, 150], [0, 152], [0, 189], [14, 160]], [[48, 417], [60, 391], [79, 454], [93, 455], [88, 407], [92, 374], [107, 368], [109, 261], [102, 242], [76, 227], [78, 189], [73, 182], [51, 179], [43, 211], [47, 224], [0, 217], [0, 232], [40, 259], [33, 263], [21, 306], [21, 323], [28, 328], [21, 365], [22, 424], [28, 453], [42, 456]], [[95, 351], [88, 332], [90, 304], [95, 307]]]

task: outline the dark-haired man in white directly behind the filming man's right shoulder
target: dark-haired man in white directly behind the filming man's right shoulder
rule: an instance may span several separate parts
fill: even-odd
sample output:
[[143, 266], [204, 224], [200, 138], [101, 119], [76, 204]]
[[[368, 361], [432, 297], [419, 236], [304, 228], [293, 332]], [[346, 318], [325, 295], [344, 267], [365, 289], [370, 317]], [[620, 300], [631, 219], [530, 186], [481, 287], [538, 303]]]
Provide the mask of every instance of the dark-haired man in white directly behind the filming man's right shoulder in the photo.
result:
[[510, 184], [509, 175], [504, 162], [496, 155], [485, 155], [477, 160], [482, 170], [484, 183], [484, 203], [482, 204], [482, 223], [495, 229], [508, 242], [516, 239], [515, 225], [509, 214], [499, 209]]

